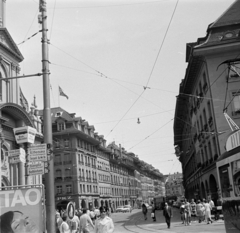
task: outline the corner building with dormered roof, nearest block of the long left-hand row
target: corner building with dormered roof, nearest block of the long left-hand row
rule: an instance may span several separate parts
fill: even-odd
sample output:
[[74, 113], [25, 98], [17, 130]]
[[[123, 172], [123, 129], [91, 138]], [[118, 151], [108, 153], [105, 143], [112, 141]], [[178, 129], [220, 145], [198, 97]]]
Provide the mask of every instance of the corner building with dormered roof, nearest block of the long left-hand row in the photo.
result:
[[96, 148], [102, 137], [81, 117], [57, 107], [51, 109], [56, 207], [69, 201], [76, 208], [98, 207], [99, 185]]

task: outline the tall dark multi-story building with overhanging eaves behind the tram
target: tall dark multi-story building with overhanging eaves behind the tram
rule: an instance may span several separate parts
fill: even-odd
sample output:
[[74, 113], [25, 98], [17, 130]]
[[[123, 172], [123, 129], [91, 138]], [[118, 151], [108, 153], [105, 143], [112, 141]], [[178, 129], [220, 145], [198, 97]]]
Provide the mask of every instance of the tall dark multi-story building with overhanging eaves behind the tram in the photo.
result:
[[217, 200], [216, 160], [231, 132], [227, 119], [240, 124], [239, 12], [240, 1], [235, 1], [208, 26], [205, 37], [187, 44], [174, 141], [188, 198]]

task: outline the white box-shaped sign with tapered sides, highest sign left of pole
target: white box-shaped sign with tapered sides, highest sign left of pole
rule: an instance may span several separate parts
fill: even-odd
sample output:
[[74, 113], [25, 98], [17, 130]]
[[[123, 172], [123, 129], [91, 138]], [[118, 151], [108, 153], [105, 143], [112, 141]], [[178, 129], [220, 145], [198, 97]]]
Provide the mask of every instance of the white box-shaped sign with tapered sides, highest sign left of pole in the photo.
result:
[[30, 126], [24, 126], [13, 129], [13, 132], [18, 144], [25, 142], [34, 143], [37, 130]]

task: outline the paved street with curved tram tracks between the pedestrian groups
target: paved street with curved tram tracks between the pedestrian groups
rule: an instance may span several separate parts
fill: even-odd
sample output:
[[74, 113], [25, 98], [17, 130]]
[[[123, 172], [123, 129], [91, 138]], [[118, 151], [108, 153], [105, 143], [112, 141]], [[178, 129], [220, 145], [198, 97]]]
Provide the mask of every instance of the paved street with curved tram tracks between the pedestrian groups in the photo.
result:
[[196, 232], [196, 233], [225, 233], [223, 221], [214, 222], [213, 224], [193, 222], [191, 226], [183, 226], [180, 221], [179, 209], [173, 209], [172, 226], [167, 229], [162, 211], [156, 212], [157, 221], [153, 222], [150, 217], [151, 210], [148, 211], [148, 220], [143, 219], [141, 210], [133, 210], [132, 213], [114, 213], [112, 219], [115, 225], [115, 233], [145, 233], [145, 232]]

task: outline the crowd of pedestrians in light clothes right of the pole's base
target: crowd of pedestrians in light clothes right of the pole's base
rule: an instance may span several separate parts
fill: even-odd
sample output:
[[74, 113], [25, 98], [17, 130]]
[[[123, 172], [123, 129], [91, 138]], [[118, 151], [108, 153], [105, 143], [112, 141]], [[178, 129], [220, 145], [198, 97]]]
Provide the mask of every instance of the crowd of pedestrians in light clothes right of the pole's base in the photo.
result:
[[105, 206], [99, 209], [78, 209], [70, 219], [66, 210], [56, 210], [56, 233], [112, 233], [114, 224], [110, 218], [111, 210]]

